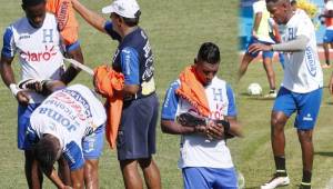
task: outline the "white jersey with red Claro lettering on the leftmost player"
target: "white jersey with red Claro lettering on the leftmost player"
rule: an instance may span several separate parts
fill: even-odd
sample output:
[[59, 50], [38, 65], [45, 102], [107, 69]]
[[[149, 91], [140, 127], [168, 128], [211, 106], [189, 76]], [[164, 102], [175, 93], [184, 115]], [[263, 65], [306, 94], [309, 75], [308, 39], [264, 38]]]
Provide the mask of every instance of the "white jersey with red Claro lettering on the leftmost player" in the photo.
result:
[[[1, 53], [8, 58], [19, 54], [21, 80], [60, 79], [64, 68], [56, 17], [47, 13], [41, 28], [33, 28], [26, 17], [12, 23], [3, 34]], [[31, 103], [39, 103], [44, 99], [34, 92], [29, 94]]]

